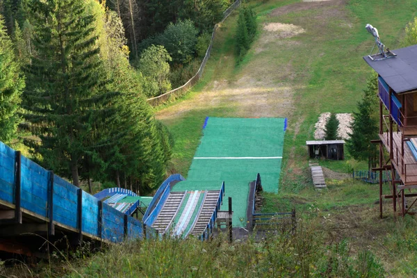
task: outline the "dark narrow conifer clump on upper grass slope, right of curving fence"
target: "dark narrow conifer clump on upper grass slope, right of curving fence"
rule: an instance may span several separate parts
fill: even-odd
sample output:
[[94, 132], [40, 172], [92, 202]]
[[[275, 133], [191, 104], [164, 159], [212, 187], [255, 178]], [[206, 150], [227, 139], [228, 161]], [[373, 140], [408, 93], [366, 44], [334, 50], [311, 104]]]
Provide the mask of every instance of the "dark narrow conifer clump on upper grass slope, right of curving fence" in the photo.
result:
[[256, 14], [252, 8], [243, 5], [239, 10], [238, 26], [236, 28], [236, 57], [238, 62], [250, 49], [256, 35]]

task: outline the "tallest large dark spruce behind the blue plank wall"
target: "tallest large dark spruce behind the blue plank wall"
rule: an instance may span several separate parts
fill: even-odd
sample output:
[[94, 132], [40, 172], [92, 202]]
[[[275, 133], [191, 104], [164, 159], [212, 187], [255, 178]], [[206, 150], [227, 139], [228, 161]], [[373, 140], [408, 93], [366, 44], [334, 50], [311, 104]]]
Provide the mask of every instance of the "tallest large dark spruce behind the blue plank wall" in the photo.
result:
[[[83, 0], [35, 0], [30, 3], [36, 56], [28, 67], [24, 94], [26, 126], [37, 137], [27, 140], [42, 164], [79, 186], [79, 168], [88, 152], [110, 145], [97, 132], [111, 124], [114, 93], [95, 46], [95, 18]], [[40, 142], [38, 142], [40, 139]]]

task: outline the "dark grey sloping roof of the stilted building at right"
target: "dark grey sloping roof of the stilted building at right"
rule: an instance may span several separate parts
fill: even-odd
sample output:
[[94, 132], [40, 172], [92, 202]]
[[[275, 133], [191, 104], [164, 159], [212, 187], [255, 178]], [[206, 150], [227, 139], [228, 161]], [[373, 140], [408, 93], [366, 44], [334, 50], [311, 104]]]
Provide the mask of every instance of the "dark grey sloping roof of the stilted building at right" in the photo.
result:
[[[397, 93], [417, 89], [417, 44], [392, 50], [396, 57], [384, 60], [363, 59]], [[377, 56], [375, 59], [381, 58]]]

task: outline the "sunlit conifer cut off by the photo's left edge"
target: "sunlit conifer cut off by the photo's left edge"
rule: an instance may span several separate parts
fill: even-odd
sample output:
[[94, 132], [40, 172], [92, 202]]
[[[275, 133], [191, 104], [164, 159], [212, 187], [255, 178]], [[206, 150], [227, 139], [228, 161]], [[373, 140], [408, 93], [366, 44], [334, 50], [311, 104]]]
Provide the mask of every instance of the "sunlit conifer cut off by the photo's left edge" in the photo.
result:
[[3, 142], [10, 142], [16, 135], [19, 124], [17, 110], [23, 89], [24, 79], [0, 15], [0, 140]]

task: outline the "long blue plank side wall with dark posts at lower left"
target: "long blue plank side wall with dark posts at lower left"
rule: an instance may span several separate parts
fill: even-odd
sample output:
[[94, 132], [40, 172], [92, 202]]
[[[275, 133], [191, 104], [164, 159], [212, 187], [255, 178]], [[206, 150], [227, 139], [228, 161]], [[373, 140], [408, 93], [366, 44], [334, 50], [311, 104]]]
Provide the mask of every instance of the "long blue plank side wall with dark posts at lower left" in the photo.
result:
[[[0, 142], [0, 203], [19, 213], [106, 242], [142, 238], [144, 224], [102, 203], [53, 172], [47, 171]], [[152, 236], [156, 231], [146, 227]]]

